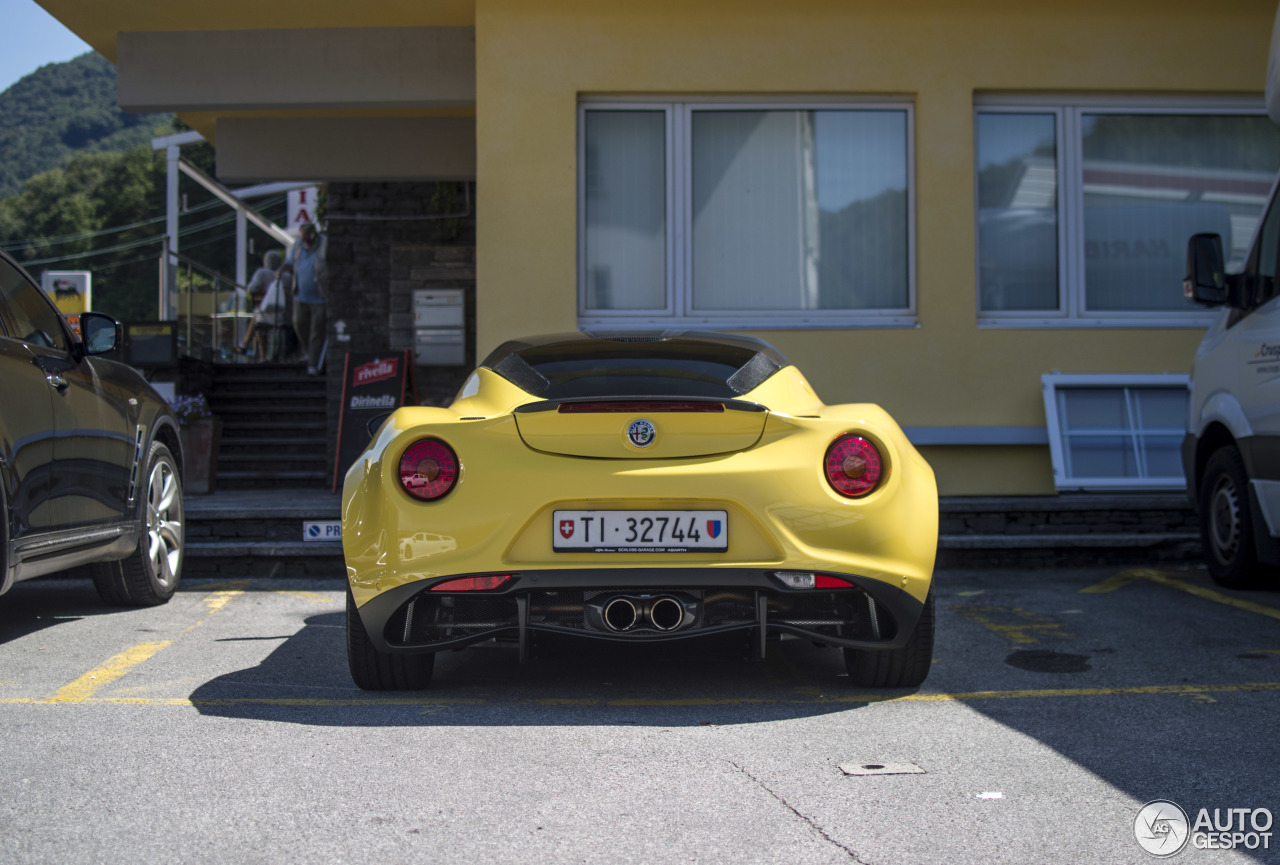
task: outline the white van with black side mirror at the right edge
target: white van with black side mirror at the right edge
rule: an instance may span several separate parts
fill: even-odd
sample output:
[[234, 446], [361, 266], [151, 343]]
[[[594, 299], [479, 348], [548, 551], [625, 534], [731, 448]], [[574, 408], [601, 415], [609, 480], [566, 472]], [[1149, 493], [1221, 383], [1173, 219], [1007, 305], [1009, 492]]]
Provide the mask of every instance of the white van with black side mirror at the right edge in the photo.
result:
[[[1267, 114], [1280, 124], [1280, 14], [1271, 32]], [[1188, 299], [1222, 307], [1196, 352], [1183, 471], [1199, 513], [1213, 580], [1242, 589], [1280, 566], [1280, 201], [1266, 215], [1239, 274], [1226, 274], [1222, 241], [1187, 247]]]

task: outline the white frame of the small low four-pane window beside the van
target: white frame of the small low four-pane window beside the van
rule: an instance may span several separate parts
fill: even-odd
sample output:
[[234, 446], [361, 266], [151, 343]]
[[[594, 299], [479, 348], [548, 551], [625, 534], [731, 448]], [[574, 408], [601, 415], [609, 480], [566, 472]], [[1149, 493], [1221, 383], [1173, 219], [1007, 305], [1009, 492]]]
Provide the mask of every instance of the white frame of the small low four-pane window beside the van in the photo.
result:
[[[1190, 384], [1190, 376], [1185, 374], [1174, 372], [1156, 372], [1144, 375], [1132, 375], [1132, 374], [1087, 374], [1087, 375], [1070, 375], [1062, 372], [1046, 372], [1041, 375], [1041, 385], [1044, 392], [1044, 421], [1048, 427], [1048, 450], [1050, 457], [1053, 461], [1053, 486], [1059, 490], [1184, 490], [1187, 489], [1187, 479], [1179, 475], [1178, 477], [1088, 477], [1076, 476], [1070, 472], [1070, 459], [1066, 453], [1066, 441], [1064, 440], [1062, 421], [1065, 420], [1059, 412], [1057, 404], [1057, 392], [1070, 388], [1110, 388], [1116, 390], [1123, 390], [1125, 394], [1125, 406], [1129, 416], [1129, 429], [1124, 432], [1117, 430], [1098, 430], [1094, 432], [1089, 431], [1073, 431], [1080, 435], [1121, 435], [1128, 434], [1133, 448], [1135, 458], [1142, 453], [1138, 445], [1138, 439], [1143, 432], [1152, 432], [1162, 436], [1169, 435], [1184, 435], [1185, 426], [1181, 427], [1169, 427], [1169, 429], [1156, 429], [1156, 430], [1143, 430], [1137, 426], [1134, 418], [1133, 401], [1129, 395], [1129, 390], [1133, 388], [1170, 388], [1180, 389], [1190, 393], [1188, 386]], [[1139, 466], [1142, 464], [1139, 458]]]

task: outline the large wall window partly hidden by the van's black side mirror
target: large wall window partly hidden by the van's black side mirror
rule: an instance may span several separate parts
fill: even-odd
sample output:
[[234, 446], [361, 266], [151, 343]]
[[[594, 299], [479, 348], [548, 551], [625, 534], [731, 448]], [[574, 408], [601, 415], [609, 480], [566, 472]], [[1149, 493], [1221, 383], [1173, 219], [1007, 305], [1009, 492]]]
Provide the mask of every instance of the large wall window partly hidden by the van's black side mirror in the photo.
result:
[[979, 101], [978, 315], [988, 326], [1203, 326], [1187, 239], [1236, 269], [1280, 168], [1258, 105]]

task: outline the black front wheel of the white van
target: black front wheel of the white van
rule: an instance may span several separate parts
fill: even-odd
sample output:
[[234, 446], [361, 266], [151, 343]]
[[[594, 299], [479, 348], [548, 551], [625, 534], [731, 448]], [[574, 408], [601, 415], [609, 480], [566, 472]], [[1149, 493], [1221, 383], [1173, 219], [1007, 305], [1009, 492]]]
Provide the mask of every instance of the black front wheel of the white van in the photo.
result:
[[1248, 589], [1261, 578], [1254, 526], [1249, 513], [1249, 477], [1233, 445], [1219, 448], [1204, 466], [1199, 485], [1201, 540], [1213, 582]]

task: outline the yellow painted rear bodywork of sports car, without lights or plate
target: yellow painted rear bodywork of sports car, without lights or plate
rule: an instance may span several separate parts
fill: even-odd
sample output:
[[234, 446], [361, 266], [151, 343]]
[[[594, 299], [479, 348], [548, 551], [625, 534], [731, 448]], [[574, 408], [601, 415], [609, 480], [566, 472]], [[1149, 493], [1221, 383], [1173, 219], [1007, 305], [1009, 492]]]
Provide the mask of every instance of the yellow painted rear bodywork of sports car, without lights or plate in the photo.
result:
[[[342, 543], [356, 603], [449, 575], [663, 567], [860, 575], [923, 601], [937, 548], [937, 486], [897, 424], [878, 406], [822, 404], [795, 367], [741, 399], [769, 408], [748, 415], [758, 426], [763, 417], [755, 439], [731, 453], [684, 458], [655, 450], [646, 458], [602, 459], [531, 449], [512, 409], [536, 398], [486, 369], [448, 408], [397, 411], [343, 484]], [[663, 422], [660, 413], [644, 416]], [[602, 417], [622, 435], [632, 415], [558, 421], [588, 418], [593, 426]], [[837, 494], [823, 472], [827, 447], [846, 432], [874, 441], [886, 466], [879, 486], [860, 499]], [[436, 502], [413, 499], [399, 484], [401, 456], [428, 436], [448, 443], [460, 462], [457, 485]], [[552, 550], [556, 509], [658, 508], [726, 511], [728, 550]]]

